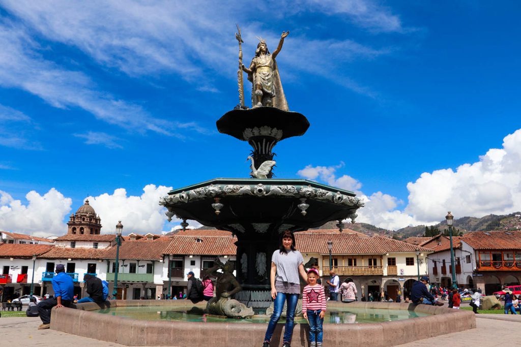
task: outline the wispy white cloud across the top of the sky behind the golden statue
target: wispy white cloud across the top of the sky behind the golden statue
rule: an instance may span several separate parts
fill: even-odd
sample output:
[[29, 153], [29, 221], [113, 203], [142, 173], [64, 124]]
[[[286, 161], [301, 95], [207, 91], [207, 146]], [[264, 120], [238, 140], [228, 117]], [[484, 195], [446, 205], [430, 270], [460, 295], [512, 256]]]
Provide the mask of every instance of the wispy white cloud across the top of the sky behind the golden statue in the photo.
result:
[[[235, 75], [237, 42], [233, 40], [233, 31], [237, 18], [243, 18], [244, 22], [241, 29], [246, 64], [255, 51], [256, 35], [265, 37], [271, 50], [279, 41], [278, 29], [266, 28], [259, 22], [259, 17], [265, 15], [290, 17], [299, 12], [337, 15], [371, 31], [402, 30], [397, 16], [369, 0], [278, 1], [257, 5], [220, 2], [218, 6], [208, 6], [201, 1], [35, 3], [6, 0], [3, 6], [48, 40], [75, 46], [104, 66], [131, 76], [173, 72], [199, 84], [200, 91], [211, 92], [219, 90], [213, 85], [216, 73], [229, 78]], [[291, 35], [280, 61], [292, 69], [331, 79], [357, 93], [375, 95], [345, 73], [331, 74], [330, 71], [354, 58], [372, 59], [387, 54], [389, 49], [374, 49], [349, 39], [313, 40], [306, 36], [305, 30]], [[328, 64], [324, 65], [324, 61]], [[288, 75], [291, 73], [290, 69], [286, 71]]]

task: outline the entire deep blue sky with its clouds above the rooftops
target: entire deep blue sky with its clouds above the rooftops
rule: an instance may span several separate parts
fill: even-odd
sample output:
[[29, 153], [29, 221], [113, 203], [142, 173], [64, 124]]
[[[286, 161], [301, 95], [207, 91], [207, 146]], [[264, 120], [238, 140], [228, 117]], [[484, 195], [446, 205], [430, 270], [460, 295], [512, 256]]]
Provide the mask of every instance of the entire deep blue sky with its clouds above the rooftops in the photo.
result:
[[518, 2], [208, 4], [0, 1], [0, 229], [56, 234], [91, 196], [105, 232], [158, 232], [167, 188], [247, 177], [249, 146], [215, 127], [236, 22], [246, 64], [290, 31], [282, 84], [311, 126], [277, 177], [355, 190], [394, 229], [521, 210]]

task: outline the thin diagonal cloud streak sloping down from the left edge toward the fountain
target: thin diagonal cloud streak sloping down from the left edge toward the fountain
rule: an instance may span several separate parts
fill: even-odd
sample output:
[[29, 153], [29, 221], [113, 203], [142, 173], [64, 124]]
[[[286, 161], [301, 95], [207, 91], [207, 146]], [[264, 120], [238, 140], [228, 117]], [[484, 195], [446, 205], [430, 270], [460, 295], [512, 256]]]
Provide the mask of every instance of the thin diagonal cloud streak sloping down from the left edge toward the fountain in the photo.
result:
[[[42, 98], [53, 107], [84, 109], [98, 119], [128, 130], [152, 131], [181, 138], [183, 136], [176, 132], [179, 128], [204, 132], [195, 123], [152, 117], [140, 105], [100, 91], [83, 72], [63, 68], [45, 59], [40, 53], [45, 47], [40, 47], [29, 30], [21, 24], [7, 19], [0, 21], [0, 47], [0, 86], [20, 88]], [[16, 115], [10, 117], [12, 119]], [[24, 144], [13, 137], [4, 140], [3, 145], [23, 147]]]

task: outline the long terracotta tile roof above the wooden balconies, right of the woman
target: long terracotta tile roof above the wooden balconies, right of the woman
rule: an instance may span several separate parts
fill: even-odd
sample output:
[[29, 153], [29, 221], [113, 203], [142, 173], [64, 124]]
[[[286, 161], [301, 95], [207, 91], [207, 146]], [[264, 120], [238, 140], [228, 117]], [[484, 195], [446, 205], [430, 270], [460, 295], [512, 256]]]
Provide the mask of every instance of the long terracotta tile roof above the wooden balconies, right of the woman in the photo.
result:
[[295, 233], [296, 248], [301, 252], [329, 254], [327, 241], [333, 241], [333, 254], [385, 254], [388, 252], [431, 252], [430, 249], [411, 245], [384, 236], [359, 236], [357, 234]]

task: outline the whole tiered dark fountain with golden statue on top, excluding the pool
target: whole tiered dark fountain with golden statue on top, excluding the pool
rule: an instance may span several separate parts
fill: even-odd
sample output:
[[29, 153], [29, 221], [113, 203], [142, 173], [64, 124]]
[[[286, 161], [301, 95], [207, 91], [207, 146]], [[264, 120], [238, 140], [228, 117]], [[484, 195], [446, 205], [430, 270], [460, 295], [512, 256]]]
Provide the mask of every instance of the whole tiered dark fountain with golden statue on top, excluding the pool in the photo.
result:
[[[354, 223], [356, 211], [364, 203], [348, 190], [306, 179], [272, 178], [275, 145], [304, 135], [309, 127], [303, 114], [289, 111], [275, 60], [289, 32], [282, 33], [272, 54], [261, 39], [246, 68], [238, 31], [240, 104], [217, 121], [217, 129], [252, 146], [248, 157], [252, 178], [215, 178], [173, 189], [160, 204], [167, 208], [169, 220], [176, 215], [183, 223], [195, 220], [237, 236], [235, 268], [242, 291], [235, 293], [235, 299], [260, 308], [271, 303], [267, 269], [271, 254], [279, 247], [280, 233], [299, 232], [330, 221], [338, 221], [342, 231], [342, 221], [351, 219]], [[252, 82], [252, 108], [244, 105], [242, 71]]]

